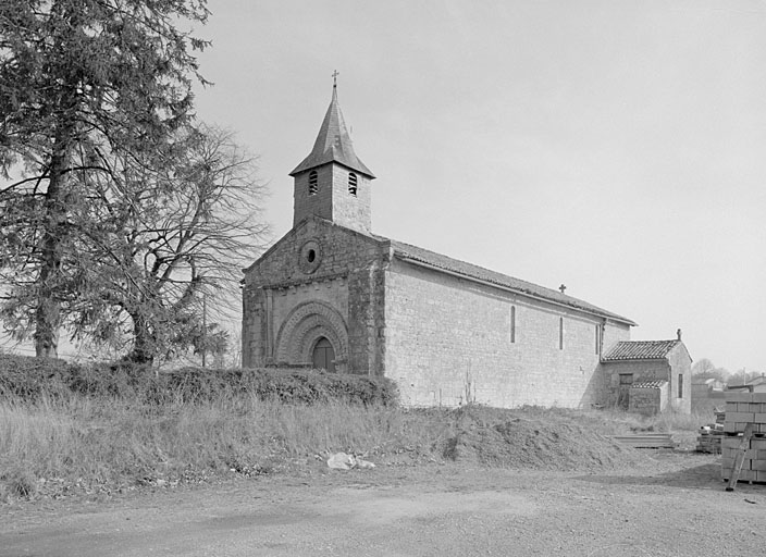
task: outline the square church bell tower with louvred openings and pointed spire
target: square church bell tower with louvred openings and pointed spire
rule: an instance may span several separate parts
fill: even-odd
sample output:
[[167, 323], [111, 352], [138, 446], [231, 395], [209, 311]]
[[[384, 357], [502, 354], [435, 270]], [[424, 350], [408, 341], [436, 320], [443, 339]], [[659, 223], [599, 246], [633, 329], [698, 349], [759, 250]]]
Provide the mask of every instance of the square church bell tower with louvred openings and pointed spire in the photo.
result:
[[333, 74], [333, 97], [313, 149], [289, 175], [294, 178], [294, 227], [316, 214], [342, 226], [370, 233], [370, 183], [375, 176], [354, 152], [337, 103], [337, 72]]

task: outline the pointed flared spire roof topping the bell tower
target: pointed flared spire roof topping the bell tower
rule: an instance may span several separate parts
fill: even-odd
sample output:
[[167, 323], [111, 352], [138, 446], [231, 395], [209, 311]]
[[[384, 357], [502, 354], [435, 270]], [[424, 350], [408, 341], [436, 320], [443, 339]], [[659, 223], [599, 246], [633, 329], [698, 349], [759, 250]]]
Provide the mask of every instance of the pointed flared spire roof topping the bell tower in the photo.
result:
[[351, 137], [346, 129], [346, 122], [343, 120], [341, 106], [337, 103], [337, 88], [333, 86], [333, 98], [330, 101], [322, 127], [319, 128], [319, 135], [313, 144], [313, 149], [304, 161], [298, 164], [291, 176], [295, 176], [299, 172], [325, 164], [328, 162], [338, 162], [344, 166], [356, 170], [362, 174], [374, 178], [375, 175], [370, 172], [363, 162], [354, 152]]

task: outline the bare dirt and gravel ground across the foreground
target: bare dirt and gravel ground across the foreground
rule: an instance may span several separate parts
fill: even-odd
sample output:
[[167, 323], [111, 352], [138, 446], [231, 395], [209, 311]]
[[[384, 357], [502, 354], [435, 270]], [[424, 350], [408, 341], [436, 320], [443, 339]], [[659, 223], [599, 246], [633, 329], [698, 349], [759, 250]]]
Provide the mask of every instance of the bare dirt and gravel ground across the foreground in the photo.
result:
[[764, 556], [766, 485], [641, 450], [606, 472], [379, 463], [0, 507], [0, 556]]

